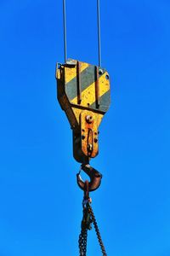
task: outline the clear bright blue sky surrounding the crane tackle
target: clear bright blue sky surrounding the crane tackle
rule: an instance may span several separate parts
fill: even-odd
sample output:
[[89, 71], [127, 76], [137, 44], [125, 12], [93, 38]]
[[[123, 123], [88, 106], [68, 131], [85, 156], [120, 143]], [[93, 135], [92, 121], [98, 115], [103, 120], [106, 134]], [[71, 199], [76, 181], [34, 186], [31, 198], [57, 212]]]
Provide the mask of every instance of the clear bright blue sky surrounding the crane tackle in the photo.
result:
[[[96, 1], [67, 0], [68, 56], [96, 64]], [[109, 256], [170, 255], [170, 2], [101, 0], [111, 108], [93, 207]], [[0, 256], [75, 256], [79, 164], [56, 100], [61, 0], [0, 1]], [[94, 230], [88, 256], [101, 255]]]

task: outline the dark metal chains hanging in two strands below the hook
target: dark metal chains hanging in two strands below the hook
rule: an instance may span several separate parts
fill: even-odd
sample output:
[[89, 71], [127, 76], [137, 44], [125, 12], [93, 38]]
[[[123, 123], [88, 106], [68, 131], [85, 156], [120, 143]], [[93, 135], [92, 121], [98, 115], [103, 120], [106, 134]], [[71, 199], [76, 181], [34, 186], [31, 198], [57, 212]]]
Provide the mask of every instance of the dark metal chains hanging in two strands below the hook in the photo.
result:
[[99, 227], [96, 221], [96, 218], [94, 216], [94, 211], [92, 207], [89, 204], [89, 200], [83, 200], [82, 202], [83, 206], [83, 217], [82, 217], [82, 224], [81, 224], [81, 233], [79, 236], [78, 244], [79, 244], [79, 255], [80, 256], [86, 256], [87, 253], [87, 241], [88, 241], [88, 230], [91, 230], [91, 224], [94, 224], [94, 230], [96, 232], [96, 235], [98, 237], [99, 246], [101, 248], [101, 251], [103, 253], [103, 256], [107, 256], [105, 253], [105, 246], [102, 241]]

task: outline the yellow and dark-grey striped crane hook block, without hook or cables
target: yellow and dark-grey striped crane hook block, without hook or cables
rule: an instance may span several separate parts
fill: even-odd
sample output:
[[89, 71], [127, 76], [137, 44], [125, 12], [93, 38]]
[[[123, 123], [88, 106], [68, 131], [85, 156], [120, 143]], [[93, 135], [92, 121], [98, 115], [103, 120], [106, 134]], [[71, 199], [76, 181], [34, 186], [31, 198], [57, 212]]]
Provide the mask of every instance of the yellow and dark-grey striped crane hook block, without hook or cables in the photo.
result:
[[68, 59], [57, 63], [57, 97], [73, 131], [73, 155], [88, 163], [99, 152], [99, 124], [110, 106], [110, 77], [105, 68]]

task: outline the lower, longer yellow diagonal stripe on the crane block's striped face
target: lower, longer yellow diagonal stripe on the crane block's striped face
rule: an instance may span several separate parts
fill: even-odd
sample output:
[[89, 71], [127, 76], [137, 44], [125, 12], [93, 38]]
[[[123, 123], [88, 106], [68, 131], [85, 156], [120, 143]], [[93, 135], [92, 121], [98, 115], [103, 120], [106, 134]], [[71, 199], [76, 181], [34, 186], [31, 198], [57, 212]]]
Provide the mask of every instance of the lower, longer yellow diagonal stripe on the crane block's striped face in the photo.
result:
[[[108, 79], [105, 79], [105, 76], [108, 73], [104, 73], [99, 78], [99, 97], [103, 96], [108, 90], [110, 90], [110, 82]], [[96, 101], [95, 98], [95, 82], [90, 84], [87, 89], [82, 91], [82, 102], [83, 107], [87, 107], [88, 104], [92, 105]], [[71, 101], [72, 104], [77, 104], [77, 96]]]

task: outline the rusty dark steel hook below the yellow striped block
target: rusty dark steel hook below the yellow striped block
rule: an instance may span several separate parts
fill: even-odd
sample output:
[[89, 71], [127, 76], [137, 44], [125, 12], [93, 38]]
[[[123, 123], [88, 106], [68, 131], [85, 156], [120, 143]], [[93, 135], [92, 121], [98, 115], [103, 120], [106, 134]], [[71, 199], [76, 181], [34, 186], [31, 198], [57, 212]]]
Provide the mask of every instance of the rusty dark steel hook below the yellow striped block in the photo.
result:
[[[92, 166], [90, 165], [84, 165], [82, 164], [81, 166], [82, 171], [86, 172], [86, 174], [88, 175], [88, 177], [90, 177], [90, 182], [88, 183], [88, 191], [94, 191], [96, 189], [99, 188], [99, 185], [101, 183], [101, 178], [102, 178], [102, 174], [100, 172], [98, 172], [97, 170], [95, 170]], [[81, 172], [81, 171], [80, 171]], [[84, 182], [82, 180], [82, 177], [80, 175], [80, 172], [77, 173], [77, 184], [80, 187], [80, 189], [82, 189], [83, 191], [85, 191], [86, 189], [86, 182]]]

